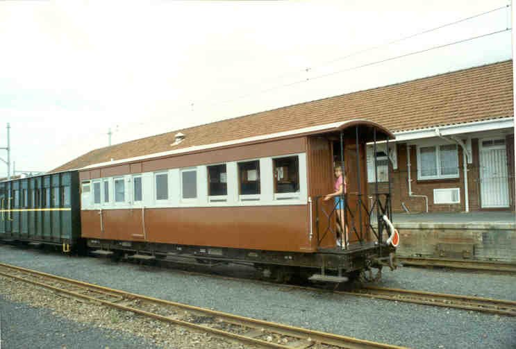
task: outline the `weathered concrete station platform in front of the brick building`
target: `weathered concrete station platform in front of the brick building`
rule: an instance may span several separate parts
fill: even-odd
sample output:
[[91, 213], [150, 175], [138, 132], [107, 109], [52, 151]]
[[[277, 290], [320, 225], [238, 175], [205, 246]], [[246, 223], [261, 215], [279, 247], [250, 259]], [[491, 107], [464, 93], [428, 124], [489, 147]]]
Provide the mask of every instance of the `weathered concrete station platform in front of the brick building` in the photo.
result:
[[401, 257], [516, 262], [514, 212], [394, 214]]

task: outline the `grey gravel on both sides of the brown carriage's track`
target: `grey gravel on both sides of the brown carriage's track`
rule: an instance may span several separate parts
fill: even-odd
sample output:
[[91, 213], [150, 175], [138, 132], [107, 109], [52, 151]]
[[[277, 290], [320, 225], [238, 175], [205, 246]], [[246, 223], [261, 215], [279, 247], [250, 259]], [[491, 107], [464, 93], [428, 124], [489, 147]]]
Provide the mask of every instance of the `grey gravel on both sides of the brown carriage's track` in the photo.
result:
[[[156, 298], [399, 346], [516, 346], [515, 318], [188, 275], [12, 246], [0, 245], [0, 261]], [[384, 273], [381, 285], [511, 299], [515, 281], [510, 275], [403, 268]]]

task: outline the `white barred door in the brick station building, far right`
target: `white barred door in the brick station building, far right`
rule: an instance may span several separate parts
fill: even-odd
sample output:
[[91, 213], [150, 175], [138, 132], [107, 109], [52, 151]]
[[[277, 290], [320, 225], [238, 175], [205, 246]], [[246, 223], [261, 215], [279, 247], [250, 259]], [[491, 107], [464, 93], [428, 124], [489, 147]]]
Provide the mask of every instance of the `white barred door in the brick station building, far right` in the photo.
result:
[[509, 184], [505, 139], [480, 139], [478, 148], [482, 208], [508, 207]]

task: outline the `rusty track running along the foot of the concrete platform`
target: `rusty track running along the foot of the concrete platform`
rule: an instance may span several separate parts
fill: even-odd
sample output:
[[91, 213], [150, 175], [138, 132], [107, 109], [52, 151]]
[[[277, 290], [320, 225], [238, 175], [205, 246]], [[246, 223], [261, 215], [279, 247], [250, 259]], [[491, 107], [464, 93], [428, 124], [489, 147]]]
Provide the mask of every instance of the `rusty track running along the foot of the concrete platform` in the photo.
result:
[[406, 266], [442, 266], [453, 269], [470, 269], [476, 271], [505, 271], [510, 273], [516, 273], [516, 264], [504, 262], [424, 257], [398, 257], [398, 260]]

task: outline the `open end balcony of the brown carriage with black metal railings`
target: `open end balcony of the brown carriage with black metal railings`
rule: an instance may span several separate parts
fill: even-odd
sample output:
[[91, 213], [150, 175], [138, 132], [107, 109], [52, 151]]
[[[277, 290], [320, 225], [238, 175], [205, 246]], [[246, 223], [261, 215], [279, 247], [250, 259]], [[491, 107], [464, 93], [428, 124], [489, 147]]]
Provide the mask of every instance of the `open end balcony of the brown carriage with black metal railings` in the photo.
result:
[[[317, 250], [328, 253], [353, 253], [370, 248], [381, 248], [390, 243], [392, 227], [391, 164], [388, 165], [388, 186], [378, 188], [376, 146], [387, 143], [394, 136], [388, 130], [369, 121], [349, 121], [338, 129], [311, 137], [308, 152], [310, 173], [310, 201], [313, 212], [313, 239]], [[372, 144], [373, 155], [367, 158], [366, 144]], [[376, 174], [367, 180], [367, 166]], [[324, 200], [335, 191], [333, 168], [344, 170], [347, 192]], [[385, 190], [386, 189], [386, 190]]]

